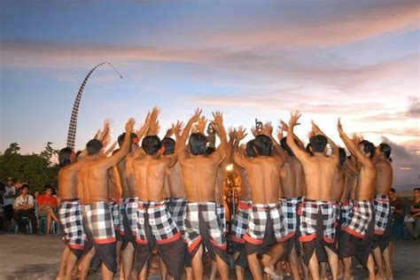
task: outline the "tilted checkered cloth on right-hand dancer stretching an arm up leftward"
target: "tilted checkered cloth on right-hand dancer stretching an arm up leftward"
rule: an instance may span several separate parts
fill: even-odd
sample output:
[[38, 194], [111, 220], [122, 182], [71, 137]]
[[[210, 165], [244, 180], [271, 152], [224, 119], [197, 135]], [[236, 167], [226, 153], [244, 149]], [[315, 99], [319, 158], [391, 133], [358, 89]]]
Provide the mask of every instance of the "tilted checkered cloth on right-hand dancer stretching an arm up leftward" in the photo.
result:
[[341, 226], [354, 237], [363, 238], [368, 229], [369, 222], [374, 218], [373, 203], [370, 200], [352, 200], [353, 211], [349, 214], [347, 222]]

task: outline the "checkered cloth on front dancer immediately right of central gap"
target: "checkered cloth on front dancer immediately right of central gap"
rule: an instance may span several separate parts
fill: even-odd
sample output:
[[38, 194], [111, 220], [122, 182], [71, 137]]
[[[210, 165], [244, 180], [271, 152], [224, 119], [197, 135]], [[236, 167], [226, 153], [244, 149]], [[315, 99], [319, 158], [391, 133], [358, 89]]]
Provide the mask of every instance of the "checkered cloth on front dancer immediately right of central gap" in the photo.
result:
[[253, 245], [261, 245], [266, 233], [268, 214], [273, 221], [274, 235], [277, 242], [284, 241], [284, 217], [280, 202], [268, 204], [253, 204], [248, 230], [244, 236], [245, 241]]

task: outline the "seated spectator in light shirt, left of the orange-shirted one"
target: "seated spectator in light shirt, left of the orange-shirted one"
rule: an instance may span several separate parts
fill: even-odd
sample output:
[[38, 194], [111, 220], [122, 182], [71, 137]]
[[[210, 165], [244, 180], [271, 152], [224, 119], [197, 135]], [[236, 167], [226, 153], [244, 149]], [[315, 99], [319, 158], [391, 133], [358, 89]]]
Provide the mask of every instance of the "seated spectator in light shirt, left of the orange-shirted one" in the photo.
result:
[[22, 185], [20, 188], [21, 194], [14, 201], [14, 215], [13, 219], [18, 223], [19, 233], [27, 234], [27, 228], [22, 222], [23, 217], [28, 217], [31, 220], [32, 234], [36, 234], [36, 217], [34, 213], [34, 197], [27, 194], [29, 186]]

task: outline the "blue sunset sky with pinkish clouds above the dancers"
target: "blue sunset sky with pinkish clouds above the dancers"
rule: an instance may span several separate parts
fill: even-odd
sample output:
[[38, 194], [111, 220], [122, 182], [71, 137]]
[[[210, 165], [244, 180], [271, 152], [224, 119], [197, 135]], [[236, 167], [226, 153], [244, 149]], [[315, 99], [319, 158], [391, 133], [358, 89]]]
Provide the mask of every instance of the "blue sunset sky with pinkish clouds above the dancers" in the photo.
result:
[[[199, 3], [199, 4], [198, 4]], [[0, 4], [0, 151], [66, 145], [82, 80], [76, 147], [102, 122], [159, 105], [165, 133], [194, 108], [226, 127], [302, 113], [338, 144], [349, 134], [393, 146], [396, 185], [420, 183], [418, 1], [189, 1]]]

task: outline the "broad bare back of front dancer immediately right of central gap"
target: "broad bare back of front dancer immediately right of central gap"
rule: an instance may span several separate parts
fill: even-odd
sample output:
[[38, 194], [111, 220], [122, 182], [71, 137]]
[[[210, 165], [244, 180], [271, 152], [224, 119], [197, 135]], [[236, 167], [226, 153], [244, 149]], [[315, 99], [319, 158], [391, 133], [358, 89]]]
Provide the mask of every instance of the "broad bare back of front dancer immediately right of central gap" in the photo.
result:
[[268, 204], [278, 201], [281, 184], [280, 160], [273, 157], [247, 159], [245, 165], [253, 196], [253, 203]]

